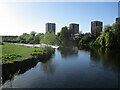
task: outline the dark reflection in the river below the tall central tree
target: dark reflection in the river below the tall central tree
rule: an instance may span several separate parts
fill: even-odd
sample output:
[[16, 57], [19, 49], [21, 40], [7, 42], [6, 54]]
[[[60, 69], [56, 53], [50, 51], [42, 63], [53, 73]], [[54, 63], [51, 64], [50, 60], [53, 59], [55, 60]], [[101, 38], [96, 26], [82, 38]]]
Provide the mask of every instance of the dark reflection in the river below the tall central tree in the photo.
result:
[[77, 46], [71, 46], [71, 47], [60, 47], [58, 50], [61, 53], [61, 56], [63, 58], [71, 57], [71, 56], [77, 56], [78, 55], [78, 47]]

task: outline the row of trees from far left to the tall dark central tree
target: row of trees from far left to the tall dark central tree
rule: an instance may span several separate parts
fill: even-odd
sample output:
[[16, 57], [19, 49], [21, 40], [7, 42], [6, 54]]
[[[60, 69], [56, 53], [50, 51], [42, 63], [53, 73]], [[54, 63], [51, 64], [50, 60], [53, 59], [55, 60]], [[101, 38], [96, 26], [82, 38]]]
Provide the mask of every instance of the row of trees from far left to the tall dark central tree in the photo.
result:
[[12, 36], [11, 38], [4, 36], [2, 37], [3, 42], [13, 42], [13, 43], [26, 43], [26, 44], [50, 44], [50, 45], [69, 45], [74, 41], [71, 37], [72, 30], [69, 30], [67, 26], [62, 27], [61, 31], [57, 33], [46, 32], [38, 33], [32, 31], [30, 34], [23, 33], [20, 36]]

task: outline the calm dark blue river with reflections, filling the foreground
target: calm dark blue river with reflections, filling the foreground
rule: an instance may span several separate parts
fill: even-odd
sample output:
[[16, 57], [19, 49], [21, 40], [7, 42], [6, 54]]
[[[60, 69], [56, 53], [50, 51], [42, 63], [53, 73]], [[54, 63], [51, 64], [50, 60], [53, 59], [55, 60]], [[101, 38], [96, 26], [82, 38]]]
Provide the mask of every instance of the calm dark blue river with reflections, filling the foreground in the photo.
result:
[[109, 49], [58, 48], [45, 62], [3, 67], [12, 78], [3, 75], [2, 88], [118, 88], [119, 58]]

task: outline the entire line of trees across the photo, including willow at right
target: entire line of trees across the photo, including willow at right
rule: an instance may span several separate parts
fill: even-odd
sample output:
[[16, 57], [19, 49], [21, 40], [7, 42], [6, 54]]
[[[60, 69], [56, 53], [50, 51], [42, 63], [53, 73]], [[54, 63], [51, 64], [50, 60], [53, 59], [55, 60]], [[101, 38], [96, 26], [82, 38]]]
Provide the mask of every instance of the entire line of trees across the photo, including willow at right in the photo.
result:
[[[11, 41], [20, 43], [44, 43], [50, 45], [89, 45], [97, 47], [120, 47], [120, 22], [113, 25], [105, 25], [104, 31], [98, 37], [82, 36], [79, 39], [73, 39], [73, 30], [70, 30], [67, 26], [62, 27], [61, 31], [57, 35], [53, 32], [37, 33], [32, 31], [30, 34], [23, 33], [18, 37], [14, 37]], [[3, 41], [7, 41], [8, 38], [3, 37]], [[9, 38], [10, 39], [10, 38]]]

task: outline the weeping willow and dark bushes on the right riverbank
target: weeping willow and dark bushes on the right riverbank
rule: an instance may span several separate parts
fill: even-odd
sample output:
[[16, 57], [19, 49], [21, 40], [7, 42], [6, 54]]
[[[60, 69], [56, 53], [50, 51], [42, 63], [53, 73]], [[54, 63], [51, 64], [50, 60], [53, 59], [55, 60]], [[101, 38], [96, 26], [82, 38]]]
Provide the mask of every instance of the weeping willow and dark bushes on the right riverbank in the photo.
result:
[[79, 45], [120, 48], [120, 22], [114, 23], [112, 26], [105, 25], [104, 31], [98, 37], [83, 37]]

